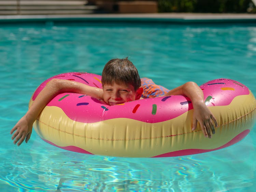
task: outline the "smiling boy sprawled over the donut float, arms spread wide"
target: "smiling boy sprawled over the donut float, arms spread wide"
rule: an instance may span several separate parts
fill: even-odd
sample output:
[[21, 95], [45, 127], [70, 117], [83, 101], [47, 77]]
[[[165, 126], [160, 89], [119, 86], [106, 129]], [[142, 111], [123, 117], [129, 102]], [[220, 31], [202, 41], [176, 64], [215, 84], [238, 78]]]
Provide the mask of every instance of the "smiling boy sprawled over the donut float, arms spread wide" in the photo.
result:
[[168, 92], [167, 89], [155, 85], [151, 79], [142, 78], [142, 81], [144, 89], [141, 86], [141, 78], [136, 67], [128, 58], [112, 59], [106, 63], [102, 71], [102, 89], [69, 80], [52, 79], [39, 93], [27, 113], [12, 128], [10, 133], [14, 133], [12, 135], [13, 143], [17, 143], [19, 146], [25, 139], [26, 143], [28, 142], [33, 122], [47, 103], [62, 92], [87, 94], [104, 100], [108, 105], [117, 105], [143, 98], [186, 95], [194, 107], [192, 130], [196, 129], [197, 122], [199, 122], [205, 137], [211, 138], [211, 131], [212, 134], [215, 133], [214, 125], [217, 126], [217, 121], [205, 105], [203, 92], [196, 83], [187, 82]]

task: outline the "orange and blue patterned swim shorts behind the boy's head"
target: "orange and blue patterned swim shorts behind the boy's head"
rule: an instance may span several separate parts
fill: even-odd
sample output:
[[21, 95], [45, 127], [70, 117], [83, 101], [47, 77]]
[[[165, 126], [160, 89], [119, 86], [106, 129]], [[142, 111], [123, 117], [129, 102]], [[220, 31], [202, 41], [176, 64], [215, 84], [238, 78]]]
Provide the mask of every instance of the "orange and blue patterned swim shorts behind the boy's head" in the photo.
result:
[[156, 85], [152, 79], [145, 77], [141, 78], [141, 86], [143, 88], [143, 93], [141, 95], [143, 99], [159, 97], [169, 92], [165, 87]]

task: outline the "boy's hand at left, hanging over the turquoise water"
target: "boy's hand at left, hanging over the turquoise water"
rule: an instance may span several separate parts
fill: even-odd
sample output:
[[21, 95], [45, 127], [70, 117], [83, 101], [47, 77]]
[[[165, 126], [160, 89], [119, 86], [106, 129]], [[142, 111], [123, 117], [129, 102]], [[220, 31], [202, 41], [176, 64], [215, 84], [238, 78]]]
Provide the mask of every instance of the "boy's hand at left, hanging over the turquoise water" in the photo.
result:
[[26, 143], [28, 143], [28, 140], [30, 139], [32, 133], [32, 126], [33, 122], [28, 122], [26, 116], [23, 116], [10, 132], [10, 134], [13, 134], [13, 132], [15, 131], [15, 133], [12, 135], [12, 140], [14, 139], [13, 143], [16, 144], [18, 142], [17, 146], [20, 146], [25, 138]]

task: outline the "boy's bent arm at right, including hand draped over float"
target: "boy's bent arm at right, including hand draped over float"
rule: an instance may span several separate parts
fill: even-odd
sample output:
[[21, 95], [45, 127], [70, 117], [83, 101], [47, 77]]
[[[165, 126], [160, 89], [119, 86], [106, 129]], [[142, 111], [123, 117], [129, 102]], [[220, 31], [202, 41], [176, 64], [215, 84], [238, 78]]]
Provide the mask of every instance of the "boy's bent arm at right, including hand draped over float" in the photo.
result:
[[200, 87], [194, 82], [187, 82], [165, 94], [165, 96], [168, 95], [186, 95], [190, 98], [194, 107], [192, 130], [196, 129], [197, 122], [199, 122], [204, 136], [211, 138], [211, 132], [212, 134], [215, 133], [214, 125], [217, 127], [218, 124], [204, 103], [203, 92]]

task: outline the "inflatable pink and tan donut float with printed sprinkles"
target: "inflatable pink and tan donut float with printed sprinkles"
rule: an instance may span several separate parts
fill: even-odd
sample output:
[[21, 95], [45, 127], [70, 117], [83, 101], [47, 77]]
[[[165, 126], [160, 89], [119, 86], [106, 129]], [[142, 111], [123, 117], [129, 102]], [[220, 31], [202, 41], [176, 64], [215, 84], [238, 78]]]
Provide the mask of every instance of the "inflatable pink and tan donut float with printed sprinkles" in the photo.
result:
[[[56, 75], [35, 90], [29, 106], [53, 78], [102, 87], [100, 75]], [[109, 106], [87, 95], [61, 93], [45, 106], [33, 127], [45, 142], [62, 149], [115, 157], [184, 156], [241, 141], [255, 124], [252, 92], [231, 79], [211, 80], [200, 88], [218, 122], [211, 139], [204, 137], [199, 124], [191, 130], [193, 105], [182, 95]]]

